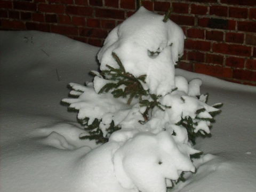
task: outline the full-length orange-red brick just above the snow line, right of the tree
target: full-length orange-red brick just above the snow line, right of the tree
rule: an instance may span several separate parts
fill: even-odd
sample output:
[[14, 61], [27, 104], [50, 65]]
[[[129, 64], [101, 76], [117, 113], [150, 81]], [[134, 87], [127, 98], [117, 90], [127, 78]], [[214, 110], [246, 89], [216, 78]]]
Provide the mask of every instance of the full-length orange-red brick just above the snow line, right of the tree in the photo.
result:
[[195, 63], [195, 73], [201, 73], [219, 78], [231, 78], [232, 70], [221, 66], [209, 66]]

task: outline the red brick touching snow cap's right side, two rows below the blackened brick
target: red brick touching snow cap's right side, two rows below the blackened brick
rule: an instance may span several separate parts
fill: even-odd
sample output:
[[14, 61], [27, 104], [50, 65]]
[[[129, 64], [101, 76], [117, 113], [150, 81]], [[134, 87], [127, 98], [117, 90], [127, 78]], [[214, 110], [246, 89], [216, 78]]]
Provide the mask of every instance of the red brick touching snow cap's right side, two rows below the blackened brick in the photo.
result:
[[195, 51], [210, 51], [211, 43], [206, 41], [194, 41], [187, 39], [185, 42], [185, 49], [195, 50]]

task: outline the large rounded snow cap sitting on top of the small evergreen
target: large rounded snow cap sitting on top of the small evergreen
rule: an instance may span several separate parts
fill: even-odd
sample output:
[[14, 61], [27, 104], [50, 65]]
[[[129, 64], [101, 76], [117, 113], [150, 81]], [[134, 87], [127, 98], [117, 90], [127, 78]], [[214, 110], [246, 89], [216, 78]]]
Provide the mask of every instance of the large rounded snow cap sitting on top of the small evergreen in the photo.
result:
[[[174, 85], [174, 65], [183, 55], [185, 35], [171, 20], [144, 7], [111, 31], [98, 54], [100, 69], [118, 68], [115, 52], [125, 70], [134, 76], [147, 75], [145, 89], [165, 95]], [[154, 55], [150, 55], [154, 52]], [[159, 52], [157, 55], [156, 52]], [[164, 70], [163, 70], [164, 69]]]

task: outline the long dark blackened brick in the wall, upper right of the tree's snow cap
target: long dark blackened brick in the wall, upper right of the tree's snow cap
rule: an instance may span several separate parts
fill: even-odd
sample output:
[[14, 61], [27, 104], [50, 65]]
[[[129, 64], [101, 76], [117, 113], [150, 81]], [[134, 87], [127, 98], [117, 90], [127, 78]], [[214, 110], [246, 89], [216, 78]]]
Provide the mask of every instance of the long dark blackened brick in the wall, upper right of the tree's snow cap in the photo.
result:
[[208, 27], [208, 28], [212, 28], [212, 29], [228, 29], [228, 30], [236, 29], [236, 21], [235, 20], [215, 19], [215, 18], [198, 18], [197, 24], [199, 27]]

